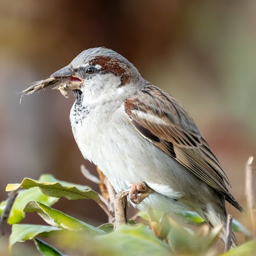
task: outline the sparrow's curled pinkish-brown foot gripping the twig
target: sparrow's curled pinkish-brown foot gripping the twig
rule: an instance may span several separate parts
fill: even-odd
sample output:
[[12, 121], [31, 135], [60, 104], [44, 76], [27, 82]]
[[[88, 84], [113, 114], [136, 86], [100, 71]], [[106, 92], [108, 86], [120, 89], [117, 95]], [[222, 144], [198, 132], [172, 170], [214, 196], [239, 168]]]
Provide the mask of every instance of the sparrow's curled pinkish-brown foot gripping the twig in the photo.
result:
[[139, 182], [132, 184], [129, 191], [129, 197], [134, 204], [139, 204], [152, 192], [154, 192], [153, 189], [148, 187], [145, 183]]

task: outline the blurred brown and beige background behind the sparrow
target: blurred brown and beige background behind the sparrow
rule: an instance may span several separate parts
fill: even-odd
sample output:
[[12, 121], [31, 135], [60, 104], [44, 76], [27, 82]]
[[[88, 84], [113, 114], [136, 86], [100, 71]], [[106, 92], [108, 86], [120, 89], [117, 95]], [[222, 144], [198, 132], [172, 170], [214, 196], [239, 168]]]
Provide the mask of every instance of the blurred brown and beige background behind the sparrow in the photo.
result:
[[[16, 93], [82, 50], [105, 46], [183, 104], [246, 208], [244, 165], [256, 152], [255, 14], [253, 1], [0, 0], [0, 201], [7, 183], [45, 173], [98, 189], [80, 173], [81, 164], [96, 171], [72, 135], [72, 93], [65, 99], [41, 91], [22, 104]], [[56, 208], [106, 222], [94, 202], [61, 199]], [[227, 210], [250, 225], [230, 205]]]

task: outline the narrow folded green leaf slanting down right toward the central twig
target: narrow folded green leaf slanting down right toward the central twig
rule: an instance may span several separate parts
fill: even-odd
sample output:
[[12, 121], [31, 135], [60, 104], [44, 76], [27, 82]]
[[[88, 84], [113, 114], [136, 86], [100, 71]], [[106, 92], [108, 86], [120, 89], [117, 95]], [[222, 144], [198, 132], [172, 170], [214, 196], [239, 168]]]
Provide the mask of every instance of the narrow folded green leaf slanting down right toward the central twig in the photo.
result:
[[90, 233], [103, 234], [103, 230], [79, 221], [63, 212], [53, 209], [44, 204], [32, 201], [25, 208], [25, 212], [37, 212], [37, 214], [48, 224], [54, 227], [69, 229], [74, 231], [90, 231]]

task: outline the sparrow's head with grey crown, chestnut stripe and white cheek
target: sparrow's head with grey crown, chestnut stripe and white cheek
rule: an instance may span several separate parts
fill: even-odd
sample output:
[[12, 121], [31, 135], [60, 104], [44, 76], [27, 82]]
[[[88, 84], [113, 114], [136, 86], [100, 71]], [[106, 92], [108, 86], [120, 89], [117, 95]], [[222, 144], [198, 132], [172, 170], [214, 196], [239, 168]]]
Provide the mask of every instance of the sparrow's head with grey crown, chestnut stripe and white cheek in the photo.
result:
[[138, 90], [143, 80], [131, 62], [103, 47], [81, 52], [51, 77], [82, 82], [79, 90], [74, 89], [77, 100], [94, 103], [124, 99], [130, 92]]

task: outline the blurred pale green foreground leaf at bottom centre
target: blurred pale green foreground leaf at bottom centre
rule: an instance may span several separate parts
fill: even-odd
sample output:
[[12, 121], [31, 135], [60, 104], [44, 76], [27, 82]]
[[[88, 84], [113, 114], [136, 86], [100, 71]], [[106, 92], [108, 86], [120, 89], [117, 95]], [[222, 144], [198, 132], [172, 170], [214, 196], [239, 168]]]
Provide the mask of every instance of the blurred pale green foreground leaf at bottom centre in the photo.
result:
[[[142, 224], [122, 225], [114, 232], [96, 236], [95, 240], [109, 255], [171, 255], [167, 244]], [[95, 252], [100, 254], [97, 249]]]

